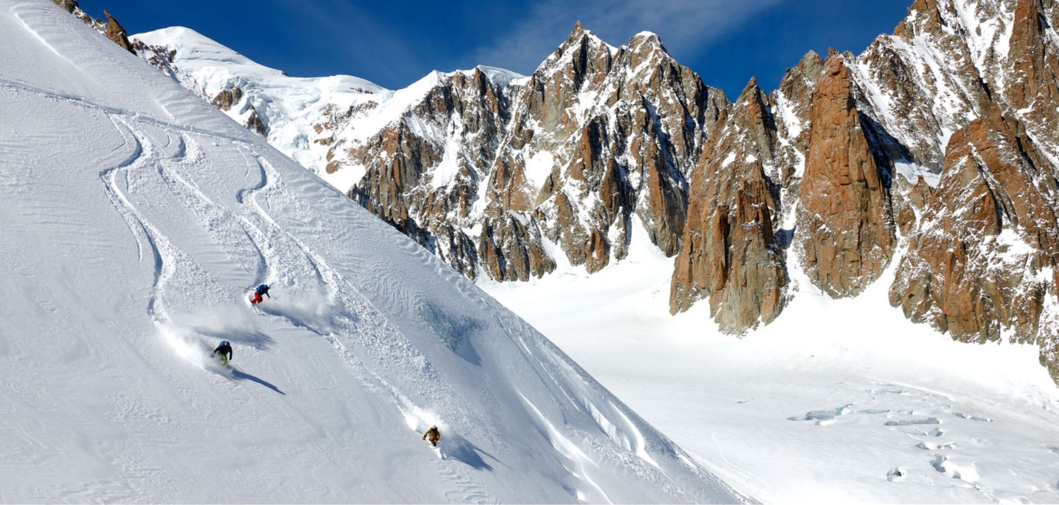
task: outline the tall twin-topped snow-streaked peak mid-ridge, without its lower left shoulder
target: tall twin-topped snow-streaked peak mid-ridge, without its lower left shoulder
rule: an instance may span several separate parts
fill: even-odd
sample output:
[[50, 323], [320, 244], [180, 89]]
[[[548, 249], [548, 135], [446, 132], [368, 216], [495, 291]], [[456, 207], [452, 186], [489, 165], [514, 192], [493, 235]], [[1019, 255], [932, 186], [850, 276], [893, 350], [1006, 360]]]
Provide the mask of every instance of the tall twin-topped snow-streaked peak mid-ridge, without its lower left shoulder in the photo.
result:
[[615, 49], [578, 24], [513, 103], [487, 212], [532, 212], [590, 272], [625, 257], [633, 216], [676, 254], [687, 176], [726, 106], [654, 34]]

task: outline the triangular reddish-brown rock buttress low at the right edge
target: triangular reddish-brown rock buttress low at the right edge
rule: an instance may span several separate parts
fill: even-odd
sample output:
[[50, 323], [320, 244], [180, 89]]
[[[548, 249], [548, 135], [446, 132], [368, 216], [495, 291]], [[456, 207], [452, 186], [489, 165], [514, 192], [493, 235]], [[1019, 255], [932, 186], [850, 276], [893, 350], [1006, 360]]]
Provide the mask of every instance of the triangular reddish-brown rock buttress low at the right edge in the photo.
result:
[[955, 132], [891, 303], [959, 340], [1043, 337], [1042, 359], [1059, 377], [1054, 328], [1040, 327], [1059, 271], [1055, 177], [1021, 125], [1003, 119], [999, 107]]

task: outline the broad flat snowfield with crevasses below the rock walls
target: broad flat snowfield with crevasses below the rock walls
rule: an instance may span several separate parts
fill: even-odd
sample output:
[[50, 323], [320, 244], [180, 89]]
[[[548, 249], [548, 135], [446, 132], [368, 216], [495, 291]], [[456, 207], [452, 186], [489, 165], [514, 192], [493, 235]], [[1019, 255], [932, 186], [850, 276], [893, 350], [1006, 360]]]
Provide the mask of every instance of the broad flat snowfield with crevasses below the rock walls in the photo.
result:
[[737, 339], [705, 304], [669, 315], [671, 270], [634, 238], [591, 275], [480, 285], [764, 503], [1059, 502], [1059, 389], [1035, 345], [955, 342], [885, 282], [836, 301], [796, 267], [783, 317]]

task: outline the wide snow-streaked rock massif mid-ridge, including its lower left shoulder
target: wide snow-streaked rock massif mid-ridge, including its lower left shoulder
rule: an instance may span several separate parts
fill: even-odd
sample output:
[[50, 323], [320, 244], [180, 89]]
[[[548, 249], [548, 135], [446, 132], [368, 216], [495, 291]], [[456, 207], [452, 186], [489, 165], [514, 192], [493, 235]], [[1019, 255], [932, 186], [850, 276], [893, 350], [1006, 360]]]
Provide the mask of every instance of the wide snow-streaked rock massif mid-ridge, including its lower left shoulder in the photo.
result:
[[656, 35], [612, 48], [580, 24], [528, 77], [475, 69], [420, 86], [371, 137], [349, 130], [371, 107], [321, 124], [327, 170], [366, 168], [355, 199], [471, 278], [501, 281], [551, 272], [545, 241], [603, 269], [627, 254], [634, 219], [676, 254], [687, 176], [729, 106]]

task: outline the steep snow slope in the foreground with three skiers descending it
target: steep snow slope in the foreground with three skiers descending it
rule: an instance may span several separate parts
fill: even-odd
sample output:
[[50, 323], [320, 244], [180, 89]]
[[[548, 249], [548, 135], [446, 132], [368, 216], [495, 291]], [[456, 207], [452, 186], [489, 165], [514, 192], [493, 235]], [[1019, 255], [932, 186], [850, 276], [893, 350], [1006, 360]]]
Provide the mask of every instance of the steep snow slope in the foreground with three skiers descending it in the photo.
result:
[[0, 501], [741, 500], [463, 276], [51, 2], [0, 0]]

